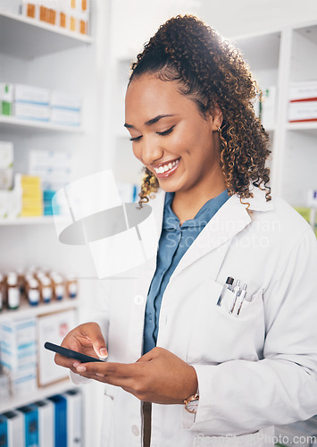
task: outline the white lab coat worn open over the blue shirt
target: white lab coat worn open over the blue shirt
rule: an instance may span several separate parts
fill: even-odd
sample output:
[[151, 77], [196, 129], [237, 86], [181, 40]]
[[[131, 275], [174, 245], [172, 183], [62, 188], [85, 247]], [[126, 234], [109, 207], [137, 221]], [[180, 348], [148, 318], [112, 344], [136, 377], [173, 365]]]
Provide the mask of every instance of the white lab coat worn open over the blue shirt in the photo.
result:
[[[157, 346], [195, 367], [200, 400], [196, 417], [183, 405], [153, 404], [151, 446], [272, 445], [271, 426], [317, 413], [315, 236], [281, 198], [266, 202], [255, 188], [244, 201], [251, 213], [232, 196], [213, 216], [163, 294]], [[163, 202], [163, 192], [150, 200], [159, 229]], [[141, 356], [154, 271], [155, 259], [104, 281], [108, 361]], [[238, 317], [230, 295], [216, 305], [228, 276], [252, 298]], [[103, 447], [142, 445], [140, 401], [112, 385], [102, 439]]]

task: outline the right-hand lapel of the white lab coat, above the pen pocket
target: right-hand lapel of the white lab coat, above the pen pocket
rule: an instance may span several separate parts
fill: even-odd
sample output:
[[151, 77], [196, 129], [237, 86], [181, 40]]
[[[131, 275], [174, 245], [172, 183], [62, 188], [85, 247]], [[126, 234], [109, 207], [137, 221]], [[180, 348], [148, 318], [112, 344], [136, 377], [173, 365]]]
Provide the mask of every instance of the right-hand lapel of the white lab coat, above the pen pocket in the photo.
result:
[[229, 243], [227, 242], [232, 240], [250, 222], [251, 217], [246, 211], [246, 206], [240, 203], [237, 196], [231, 196], [207, 223], [204, 230], [197, 236], [188, 251], [180, 259], [172, 277], [179, 274], [187, 266], [208, 252], [223, 246], [217, 257], [217, 266], [214, 266], [215, 268], [213, 269], [216, 275], [229, 248]]

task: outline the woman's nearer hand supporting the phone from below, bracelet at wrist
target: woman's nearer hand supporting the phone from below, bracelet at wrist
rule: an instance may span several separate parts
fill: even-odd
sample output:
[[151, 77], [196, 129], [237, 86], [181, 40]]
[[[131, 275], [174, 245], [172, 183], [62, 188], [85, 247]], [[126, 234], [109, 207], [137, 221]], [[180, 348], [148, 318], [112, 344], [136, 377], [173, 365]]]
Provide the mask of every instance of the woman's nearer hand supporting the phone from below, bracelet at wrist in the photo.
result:
[[163, 348], [154, 348], [131, 364], [82, 363], [77, 372], [154, 403], [183, 403], [198, 387], [194, 367]]

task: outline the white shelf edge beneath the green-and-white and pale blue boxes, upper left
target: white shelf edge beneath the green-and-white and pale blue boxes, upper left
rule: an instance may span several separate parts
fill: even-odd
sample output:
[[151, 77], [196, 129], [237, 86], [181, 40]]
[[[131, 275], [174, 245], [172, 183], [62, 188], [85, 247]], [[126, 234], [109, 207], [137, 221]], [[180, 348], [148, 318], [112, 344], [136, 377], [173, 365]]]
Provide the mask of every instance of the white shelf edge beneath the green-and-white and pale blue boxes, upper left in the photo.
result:
[[[0, 25], [1, 26], [1, 25]], [[25, 131], [37, 131], [37, 132], [66, 132], [66, 133], [83, 133], [82, 127], [67, 126], [53, 124], [52, 122], [39, 122], [31, 120], [21, 120], [14, 116], [0, 116], [0, 130], [3, 131], [18, 131], [19, 133], [25, 133]]]

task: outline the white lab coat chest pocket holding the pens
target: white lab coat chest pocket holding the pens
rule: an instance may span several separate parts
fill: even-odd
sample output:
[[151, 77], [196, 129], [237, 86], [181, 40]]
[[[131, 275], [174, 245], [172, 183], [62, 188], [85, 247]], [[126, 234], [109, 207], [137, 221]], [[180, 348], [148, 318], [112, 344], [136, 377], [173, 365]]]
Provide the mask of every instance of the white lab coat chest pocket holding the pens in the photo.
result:
[[206, 280], [200, 287], [196, 314], [188, 325], [190, 364], [218, 364], [233, 359], [257, 360], [264, 342], [263, 291], [244, 300], [238, 316], [230, 314], [234, 301], [227, 291], [217, 306], [223, 284]]

